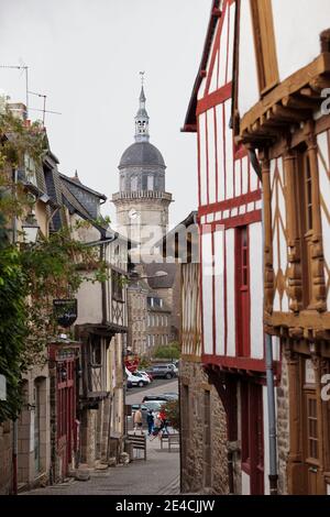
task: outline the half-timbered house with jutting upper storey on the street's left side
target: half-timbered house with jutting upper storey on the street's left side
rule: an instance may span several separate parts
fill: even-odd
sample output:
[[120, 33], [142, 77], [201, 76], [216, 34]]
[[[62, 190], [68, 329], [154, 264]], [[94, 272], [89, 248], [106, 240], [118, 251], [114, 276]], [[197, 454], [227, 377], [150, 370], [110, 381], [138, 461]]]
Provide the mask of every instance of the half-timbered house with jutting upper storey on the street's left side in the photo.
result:
[[[77, 293], [77, 339], [81, 341], [79, 393], [80, 461], [88, 466], [117, 458], [123, 448], [123, 350], [128, 332], [127, 283], [129, 241], [102, 228], [100, 201], [106, 197], [62, 175], [64, 201], [75, 238], [95, 248], [106, 262], [107, 278], [84, 282]], [[81, 224], [87, 221], [89, 224]], [[86, 276], [92, 277], [92, 272]]]

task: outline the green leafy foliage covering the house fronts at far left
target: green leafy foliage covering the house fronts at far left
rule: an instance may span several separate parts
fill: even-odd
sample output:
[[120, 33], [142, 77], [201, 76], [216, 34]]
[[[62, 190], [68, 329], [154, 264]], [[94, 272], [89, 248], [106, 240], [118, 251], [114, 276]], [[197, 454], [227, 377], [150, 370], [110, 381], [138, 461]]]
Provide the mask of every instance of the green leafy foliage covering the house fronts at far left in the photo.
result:
[[26, 128], [10, 113], [0, 114], [0, 373], [8, 391], [0, 422], [19, 415], [22, 374], [45, 362], [47, 341], [58, 333], [53, 299], [74, 297], [84, 280], [108, 277], [99, 250], [73, 239], [74, 229], [63, 228], [34, 245], [11, 243], [12, 218], [34, 202], [13, 183], [12, 170], [24, 166], [29, 175], [44, 151], [45, 134], [37, 124]]

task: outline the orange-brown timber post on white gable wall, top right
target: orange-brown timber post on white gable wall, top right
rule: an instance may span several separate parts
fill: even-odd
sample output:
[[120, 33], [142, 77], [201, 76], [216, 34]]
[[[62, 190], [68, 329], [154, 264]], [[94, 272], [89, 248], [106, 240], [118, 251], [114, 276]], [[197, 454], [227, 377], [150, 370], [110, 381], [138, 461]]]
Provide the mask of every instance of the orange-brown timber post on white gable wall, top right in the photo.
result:
[[260, 92], [279, 80], [274, 35], [272, 0], [250, 0]]

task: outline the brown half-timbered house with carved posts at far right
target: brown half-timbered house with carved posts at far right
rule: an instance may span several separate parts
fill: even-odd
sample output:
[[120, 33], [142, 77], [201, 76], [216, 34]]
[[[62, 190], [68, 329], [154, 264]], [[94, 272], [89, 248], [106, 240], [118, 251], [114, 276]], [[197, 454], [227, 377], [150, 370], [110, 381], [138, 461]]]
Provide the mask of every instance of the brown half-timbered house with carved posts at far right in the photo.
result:
[[330, 4], [237, 4], [235, 145], [262, 170], [264, 323], [283, 356], [278, 486], [330, 494]]

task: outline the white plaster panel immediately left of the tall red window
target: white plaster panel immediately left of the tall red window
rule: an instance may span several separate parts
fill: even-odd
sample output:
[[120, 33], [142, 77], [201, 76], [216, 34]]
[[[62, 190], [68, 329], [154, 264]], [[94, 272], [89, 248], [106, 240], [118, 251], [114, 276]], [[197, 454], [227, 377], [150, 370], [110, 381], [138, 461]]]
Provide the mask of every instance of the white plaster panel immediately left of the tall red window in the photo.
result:
[[234, 255], [234, 230], [226, 231], [227, 246], [227, 354], [235, 356], [235, 255]]

